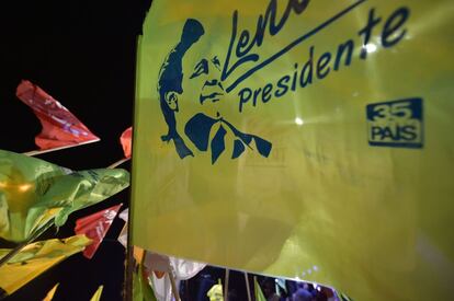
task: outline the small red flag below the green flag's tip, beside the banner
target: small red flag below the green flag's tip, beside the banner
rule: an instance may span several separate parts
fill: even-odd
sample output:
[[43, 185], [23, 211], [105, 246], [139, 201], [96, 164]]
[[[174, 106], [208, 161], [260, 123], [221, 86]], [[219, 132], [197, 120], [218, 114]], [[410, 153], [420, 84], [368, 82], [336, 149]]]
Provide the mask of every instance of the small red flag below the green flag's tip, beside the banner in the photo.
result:
[[76, 221], [76, 234], [86, 234], [87, 238], [93, 240], [93, 243], [83, 251], [83, 256], [89, 259], [93, 257], [122, 205], [113, 206]]

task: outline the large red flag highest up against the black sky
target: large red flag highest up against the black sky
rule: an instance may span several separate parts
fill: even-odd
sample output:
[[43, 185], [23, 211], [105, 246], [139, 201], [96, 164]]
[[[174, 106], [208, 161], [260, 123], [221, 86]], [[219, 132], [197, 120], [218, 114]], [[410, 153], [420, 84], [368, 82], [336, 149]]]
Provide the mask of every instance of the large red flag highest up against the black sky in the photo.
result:
[[42, 150], [99, 141], [75, 115], [30, 81], [18, 85], [15, 95], [33, 109], [43, 129], [35, 137]]

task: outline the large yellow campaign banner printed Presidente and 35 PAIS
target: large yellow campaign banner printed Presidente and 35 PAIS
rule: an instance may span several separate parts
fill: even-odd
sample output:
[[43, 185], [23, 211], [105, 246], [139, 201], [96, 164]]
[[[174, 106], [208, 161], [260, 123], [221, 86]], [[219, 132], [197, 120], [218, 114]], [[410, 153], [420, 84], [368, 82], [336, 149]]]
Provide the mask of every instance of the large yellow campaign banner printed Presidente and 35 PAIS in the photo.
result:
[[444, 300], [454, 2], [155, 0], [137, 65], [133, 242]]

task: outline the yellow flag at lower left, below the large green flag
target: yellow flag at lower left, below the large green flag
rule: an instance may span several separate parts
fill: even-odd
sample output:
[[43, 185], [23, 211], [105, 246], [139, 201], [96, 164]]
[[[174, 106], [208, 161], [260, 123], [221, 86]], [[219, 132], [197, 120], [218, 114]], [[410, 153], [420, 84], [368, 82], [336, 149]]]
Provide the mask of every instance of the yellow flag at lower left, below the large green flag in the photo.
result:
[[[83, 251], [90, 243], [86, 235], [75, 235], [29, 244], [0, 267], [0, 288], [11, 294], [48, 268]], [[0, 258], [9, 252], [10, 248], [0, 248]]]

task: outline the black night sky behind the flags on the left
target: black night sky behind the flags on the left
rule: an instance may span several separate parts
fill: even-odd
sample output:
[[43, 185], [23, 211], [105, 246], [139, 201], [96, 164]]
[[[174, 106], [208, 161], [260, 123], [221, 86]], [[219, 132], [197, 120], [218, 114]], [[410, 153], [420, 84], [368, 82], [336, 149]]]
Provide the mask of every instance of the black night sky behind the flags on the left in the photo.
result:
[[[136, 36], [149, 2], [2, 1], [0, 148], [15, 152], [36, 149], [34, 137], [41, 130], [39, 123], [15, 97], [16, 85], [27, 79], [102, 139], [38, 158], [72, 170], [106, 167], [122, 159], [118, 137], [133, 119]], [[73, 235], [76, 219], [118, 202], [127, 207], [128, 194], [124, 190], [72, 213], [58, 232], [54, 228], [41, 239]], [[42, 300], [58, 281], [54, 300], [89, 300], [100, 285], [104, 285], [102, 300], [122, 300], [124, 248], [116, 242], [122, 227], [123, 221], [115, 219], [91, 261], [73, 255], [5, 300]], [[12, 244], [2, 241], [0, 246]]]

